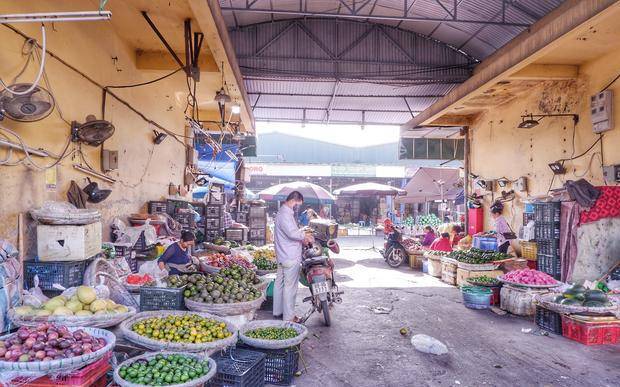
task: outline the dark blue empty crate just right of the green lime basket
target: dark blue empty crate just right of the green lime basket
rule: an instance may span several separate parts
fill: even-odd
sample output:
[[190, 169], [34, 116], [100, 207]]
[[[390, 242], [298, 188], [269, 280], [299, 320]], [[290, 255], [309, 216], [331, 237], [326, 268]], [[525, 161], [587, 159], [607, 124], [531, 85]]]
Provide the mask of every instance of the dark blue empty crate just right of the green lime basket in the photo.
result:
[[265, 357], [258, 351], [229, 348], [212, 356], [217, 374], [209, 387], [262, 387], [265, 385]]

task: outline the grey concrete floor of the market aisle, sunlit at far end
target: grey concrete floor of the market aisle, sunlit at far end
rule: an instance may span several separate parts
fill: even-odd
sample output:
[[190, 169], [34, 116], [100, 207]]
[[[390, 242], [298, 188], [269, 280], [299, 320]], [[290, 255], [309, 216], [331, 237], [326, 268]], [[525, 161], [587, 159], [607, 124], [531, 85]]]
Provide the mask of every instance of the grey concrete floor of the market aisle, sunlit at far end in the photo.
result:
[[[465, 308], [456, 287], [401, 267], [391, 269], [371, 237], [339, 240], [343, 303], [307, 321], [306, 370], [297, 386], [618, 386], [620, 345], [587, 347], [543, 336], [533, 320]], [[374, 238], [377, 248], [383, 240]], [[298, 294], [298, 315], [309, 291]], [[391, 310], [376, 314], [373, 307]], [[259, 318], [268, 318], [265, 312]], [[441, 356], [417, 352], [401, 327], [444, 342]], [[522, 333], [531, 328], [532, 333]], [[303, 366], [301, 366], [303, 371]]]

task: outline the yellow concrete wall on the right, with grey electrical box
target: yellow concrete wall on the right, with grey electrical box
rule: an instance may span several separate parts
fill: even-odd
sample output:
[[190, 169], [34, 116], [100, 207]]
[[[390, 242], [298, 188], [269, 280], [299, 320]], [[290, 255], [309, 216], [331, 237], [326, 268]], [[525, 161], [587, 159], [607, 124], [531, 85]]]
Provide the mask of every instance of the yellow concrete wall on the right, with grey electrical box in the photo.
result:
[[[517, 193], [517, 199], [506, 205], [505, 216], [515, 230], [522, 225], [522, 199], [547, 193], [553, 176], [548, 164], [581, 154], [598, 138], [590, 124], [589, 97], [618, 75], [618, 69], [620, 50], [610, 51], [604, 57], [580, 66], [578, 79], [541, 83], [511, 102], [486, 111], [474, 124], [471, 142], [471, 170], [474, 174], [486, 179], [528, 177], [529, 191]], [[615, 92], [615, 128], [604, 135], [605, 165], [620, 163], [620, 152], [617, 151], [620, 146], [620, 80], [610, 89]], [[570, 117], [545, 118], [533, 129], [517, 128], [521, 122], [520, 116], [529, 113], [579, 114], [574, 153]], [[600, 152], [599, 145], [586, 156], [566, 162], [568, 173], [556, 177], [553, 188], [561, 187], [566, 180], [577, 180], [582, 175], [595, 185], [603, 184], [600, 153], [592, 159], [592, 154], [596, 152]], [[485, 207], [488, 209], [492, 199], [497, 198], [502, 190], [511, 188], [510, 185], [505, 188], [496, 186], [494, 195], [485, 197]], [[492, 227], [489, 216], [485, 217], [485, 222], [487, 228]]]

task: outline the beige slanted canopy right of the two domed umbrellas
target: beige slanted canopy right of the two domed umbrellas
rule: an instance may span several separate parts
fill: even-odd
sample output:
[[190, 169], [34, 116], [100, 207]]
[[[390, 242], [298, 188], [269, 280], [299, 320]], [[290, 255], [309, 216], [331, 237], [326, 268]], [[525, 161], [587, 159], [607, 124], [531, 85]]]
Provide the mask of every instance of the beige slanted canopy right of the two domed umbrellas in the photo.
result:
[[453, 200], [459, 187], [460, 174], [457, 168], [420, 167], [405, 186], [407, 194], [397, 196], [397, 203], [424, 203], [432, 200]]

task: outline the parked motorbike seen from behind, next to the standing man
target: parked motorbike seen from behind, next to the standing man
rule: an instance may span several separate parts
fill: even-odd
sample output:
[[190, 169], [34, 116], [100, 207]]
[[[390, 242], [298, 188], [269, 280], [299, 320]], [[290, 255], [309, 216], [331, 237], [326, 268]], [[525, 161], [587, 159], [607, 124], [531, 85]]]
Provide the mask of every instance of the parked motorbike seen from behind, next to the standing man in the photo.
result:
[[305, 245], [302, 250], [301, 273], [299, 282], [310, 289], [310, 296], [303, 302], [311, 302], [311, 308], [301, 318], [302, 323], [318, 311], [323, 314], [325, 325], [331, 325], [330, 308], [334, 303], [341, 303], [344, 292], [339, 291], [334, 280], [334, 260], [329, 252], [338, 254], [340, 247], [331, 237], [338, 235], [338, 224], [324, 220], [311, 221], [310, 229], [314, 242]]

